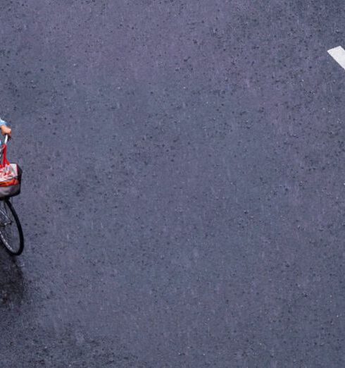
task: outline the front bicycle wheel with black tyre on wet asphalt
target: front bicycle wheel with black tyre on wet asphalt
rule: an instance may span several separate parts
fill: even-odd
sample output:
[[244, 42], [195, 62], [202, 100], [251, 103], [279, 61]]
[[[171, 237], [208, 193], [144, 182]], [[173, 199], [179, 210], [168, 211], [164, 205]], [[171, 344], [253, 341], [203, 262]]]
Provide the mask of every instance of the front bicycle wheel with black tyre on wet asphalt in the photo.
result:
[[0, 201], [0, 239], [10, 254], [19, 255], [23, 252], [22, 226], [9, 200]]

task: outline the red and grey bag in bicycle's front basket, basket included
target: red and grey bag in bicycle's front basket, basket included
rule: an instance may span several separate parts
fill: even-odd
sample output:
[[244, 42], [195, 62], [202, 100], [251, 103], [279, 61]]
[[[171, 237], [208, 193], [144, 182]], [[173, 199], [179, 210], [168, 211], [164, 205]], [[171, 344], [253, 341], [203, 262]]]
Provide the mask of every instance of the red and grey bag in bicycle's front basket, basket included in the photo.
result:
[[18, 164], [10, 164], [7, 159], [7, 145], [2, 147], [2, 164], [0, 164], [0, 200], [20, 193], [22, 169]]

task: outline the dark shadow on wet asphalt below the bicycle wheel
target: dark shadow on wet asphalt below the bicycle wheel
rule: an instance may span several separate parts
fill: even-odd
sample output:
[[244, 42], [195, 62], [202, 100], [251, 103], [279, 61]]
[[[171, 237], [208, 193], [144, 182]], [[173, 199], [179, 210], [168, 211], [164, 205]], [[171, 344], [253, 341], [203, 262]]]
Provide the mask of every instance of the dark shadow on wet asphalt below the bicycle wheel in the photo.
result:
[[25, 294], [23, 272], [17, 259], [0, 249], [0, 309], [20, 307]]

